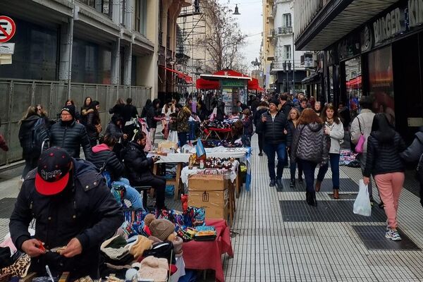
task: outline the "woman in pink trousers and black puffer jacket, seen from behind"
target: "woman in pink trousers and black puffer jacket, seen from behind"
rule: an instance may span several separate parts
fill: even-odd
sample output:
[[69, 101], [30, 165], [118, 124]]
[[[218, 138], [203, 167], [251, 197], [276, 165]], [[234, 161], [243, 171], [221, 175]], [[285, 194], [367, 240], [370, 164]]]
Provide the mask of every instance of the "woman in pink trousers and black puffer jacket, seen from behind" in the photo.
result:
[[397, 231], [397, 212], [405, 178], [400, 152], [405, 148], [403, 138], [389, 123], [388, 118], [384, 114], [376, 114], [372, 123], [372, 133], [367, 140], [363, 181], [368, 185], [370, 176], [374, 176], [388, 217], [385, 237], [393, 241], [401, 240]]

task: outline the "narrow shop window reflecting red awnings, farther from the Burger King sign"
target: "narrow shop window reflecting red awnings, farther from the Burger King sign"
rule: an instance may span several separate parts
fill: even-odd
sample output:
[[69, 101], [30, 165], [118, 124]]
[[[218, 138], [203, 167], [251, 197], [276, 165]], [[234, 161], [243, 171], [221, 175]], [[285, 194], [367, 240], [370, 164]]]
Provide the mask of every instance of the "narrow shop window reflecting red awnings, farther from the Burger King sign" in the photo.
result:
[[362, 67], [360, 57], [345, 61], [345, 91], [348, 97], [348, 108], [352, 118], [360, 112], [362, 97]]

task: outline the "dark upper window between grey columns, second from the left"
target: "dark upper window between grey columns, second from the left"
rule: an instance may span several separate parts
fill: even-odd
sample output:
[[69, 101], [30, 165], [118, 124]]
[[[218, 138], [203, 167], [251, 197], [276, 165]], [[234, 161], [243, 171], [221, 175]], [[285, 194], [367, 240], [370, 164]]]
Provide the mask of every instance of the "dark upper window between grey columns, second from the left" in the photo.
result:
[[72, 49], [72, 82], [110, 84], [111, 51], [75, 38]]

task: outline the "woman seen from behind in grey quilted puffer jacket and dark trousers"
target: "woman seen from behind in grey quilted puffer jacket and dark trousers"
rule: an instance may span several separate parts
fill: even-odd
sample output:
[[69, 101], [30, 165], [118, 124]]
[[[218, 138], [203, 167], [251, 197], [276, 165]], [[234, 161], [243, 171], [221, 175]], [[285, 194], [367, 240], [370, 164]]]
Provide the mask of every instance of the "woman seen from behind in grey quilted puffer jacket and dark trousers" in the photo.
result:
[[293, 137], [291, 164], [293, 161], [302, 163], [307, 189], [306, 200], [311, 206], [317, 206], [314, 170], [317, 164], [327, 164], [328, 154], [329, 144], [324, 135], [323, 122], [312, 109], [303, 109]]

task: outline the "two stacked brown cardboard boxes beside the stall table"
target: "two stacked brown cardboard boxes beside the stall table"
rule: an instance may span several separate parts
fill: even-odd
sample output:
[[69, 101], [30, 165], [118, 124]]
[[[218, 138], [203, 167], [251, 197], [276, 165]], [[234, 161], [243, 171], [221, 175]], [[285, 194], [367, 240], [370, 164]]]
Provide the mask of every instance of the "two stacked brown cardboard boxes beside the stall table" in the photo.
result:
[[196, 174], [188, 178], [188, 206], [202, 207], [206, 219], [228, 219], [227, 175]]

